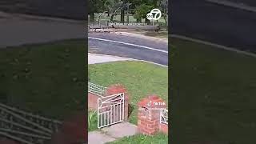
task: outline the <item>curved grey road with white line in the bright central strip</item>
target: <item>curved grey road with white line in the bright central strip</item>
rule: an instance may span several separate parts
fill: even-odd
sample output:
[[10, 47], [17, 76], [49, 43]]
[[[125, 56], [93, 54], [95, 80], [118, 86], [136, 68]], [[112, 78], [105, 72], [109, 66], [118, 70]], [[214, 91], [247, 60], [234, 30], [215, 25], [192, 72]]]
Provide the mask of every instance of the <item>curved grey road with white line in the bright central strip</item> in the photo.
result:
[[[120, 34], [102, 34], [90, 33], [89, 51], [98, 54], [117, 55], [126, 58], [135, 58], [149, 62], [155, 62], [168, 66], [168, 43], [147, 40], [145, 38], [134, 38]], [[98, 39], [114, 40], [117, 42], [104, 42]], [[134, 44], [139, 46], [130, 46], [123, 43]], [[140, 47], [142, 46], [142, 47]]]

